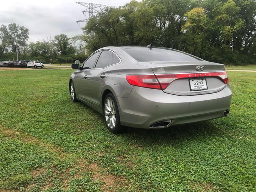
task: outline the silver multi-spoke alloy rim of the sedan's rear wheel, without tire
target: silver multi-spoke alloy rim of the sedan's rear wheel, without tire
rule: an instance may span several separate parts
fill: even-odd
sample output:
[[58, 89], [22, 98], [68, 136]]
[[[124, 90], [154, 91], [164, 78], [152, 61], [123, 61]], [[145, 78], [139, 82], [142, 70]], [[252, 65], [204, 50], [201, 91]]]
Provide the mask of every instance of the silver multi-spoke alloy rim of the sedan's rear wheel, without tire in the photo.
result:
[[105, 101], [104, 115], [106, 124], [110, 129], [116, 126], [116, 106], [112, 98], [108, 97]]

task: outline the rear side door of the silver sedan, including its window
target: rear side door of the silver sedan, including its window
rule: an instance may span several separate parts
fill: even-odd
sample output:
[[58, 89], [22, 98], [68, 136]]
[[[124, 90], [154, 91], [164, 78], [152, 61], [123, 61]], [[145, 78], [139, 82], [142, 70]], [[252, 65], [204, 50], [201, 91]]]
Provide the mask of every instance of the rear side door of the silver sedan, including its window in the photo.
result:
[[90, 74], [87, 74], [87, 96], [97, 106], [100, 105], [102, 88], [108, 76], [108, 66], [112, 65], [113, 54], [110, 50], [102, 50], [94, 69], [90, 71]]

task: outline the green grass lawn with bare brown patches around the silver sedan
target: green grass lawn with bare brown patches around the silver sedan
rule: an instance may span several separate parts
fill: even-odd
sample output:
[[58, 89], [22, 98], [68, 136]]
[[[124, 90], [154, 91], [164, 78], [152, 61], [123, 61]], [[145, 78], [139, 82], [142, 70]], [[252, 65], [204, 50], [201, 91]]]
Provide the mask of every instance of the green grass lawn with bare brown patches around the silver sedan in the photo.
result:
[[72, 103], [72, 70], [0, 71], [0, 191], [256, 190], [256, 74], [228, 72], [230, 116], [110, 133]]

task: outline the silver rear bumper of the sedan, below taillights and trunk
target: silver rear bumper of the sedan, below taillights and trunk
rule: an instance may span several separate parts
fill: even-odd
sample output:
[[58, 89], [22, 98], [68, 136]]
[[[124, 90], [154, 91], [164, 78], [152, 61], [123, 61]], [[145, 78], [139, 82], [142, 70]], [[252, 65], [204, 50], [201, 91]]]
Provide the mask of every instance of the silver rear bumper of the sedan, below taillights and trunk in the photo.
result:
[[118, 97], [120, 121], [124, 126], [151, 128], [152, 124], [166, 120], [172, 120], [168, 126], [210, 120], [225, 116], [231, 98], [229, 85], [216, 93], [194, 96], [134, 86], [128, 98]]

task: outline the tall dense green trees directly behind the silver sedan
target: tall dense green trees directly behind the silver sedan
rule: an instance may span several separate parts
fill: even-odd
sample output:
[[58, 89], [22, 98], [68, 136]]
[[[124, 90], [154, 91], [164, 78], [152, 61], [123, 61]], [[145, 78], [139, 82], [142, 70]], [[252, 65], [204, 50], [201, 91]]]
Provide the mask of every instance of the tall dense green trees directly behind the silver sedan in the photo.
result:
[[76, 38], [88, 52], [153, 43], [208, 61], [255, 64], [256, 0], [132, 0], [104, 7]]

